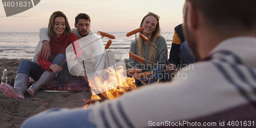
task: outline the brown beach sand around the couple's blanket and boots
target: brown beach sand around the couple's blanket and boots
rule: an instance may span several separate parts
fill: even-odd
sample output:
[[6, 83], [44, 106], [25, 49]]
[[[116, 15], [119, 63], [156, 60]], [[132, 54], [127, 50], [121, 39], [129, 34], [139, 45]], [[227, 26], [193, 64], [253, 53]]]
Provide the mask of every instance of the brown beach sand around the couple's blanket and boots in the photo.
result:
[[[22, 59], [0, 59], [0, 76], [6, 68], [8, 82], [15, 78], [19, 62]], [[127, 59], [125, 60], [127, 63]], [[127, 66], [126, 66], [127, 68]], [[0, 127], [19, 127], [24, 120], [52, 108], [78, 108], [87, 103], [92, 94], [89, 91], [80, 92], [37, 92], [35, 96], [25, 94], [26, 99], [12, 99], [0, 91]]]

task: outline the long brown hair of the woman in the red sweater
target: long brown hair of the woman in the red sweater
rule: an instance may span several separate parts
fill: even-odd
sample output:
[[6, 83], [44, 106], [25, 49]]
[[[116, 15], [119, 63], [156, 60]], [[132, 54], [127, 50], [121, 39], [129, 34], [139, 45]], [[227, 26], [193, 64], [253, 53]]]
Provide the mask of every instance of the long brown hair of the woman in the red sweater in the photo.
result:
[[63, 32], [63, 34], [66, 34], [66, 35], [69, 36], [69, 34], [71, 34], [71, 28], [69, 26], [69, 21], [68, 21], [67, 16], [61, 11], [53, 12], [52, 15], [50, 16], [49, 24], [48, 24], [48, 33], [49, 33], [49, 35], [52, 38], [54, 37], [55, 32], [53, 31], [53, 27], [54, 27], [54, 24], [55, 24], [55, 18], [56, 17], [63, 17], [65, 19], [66, 28], [65, 28], [65, 31]]

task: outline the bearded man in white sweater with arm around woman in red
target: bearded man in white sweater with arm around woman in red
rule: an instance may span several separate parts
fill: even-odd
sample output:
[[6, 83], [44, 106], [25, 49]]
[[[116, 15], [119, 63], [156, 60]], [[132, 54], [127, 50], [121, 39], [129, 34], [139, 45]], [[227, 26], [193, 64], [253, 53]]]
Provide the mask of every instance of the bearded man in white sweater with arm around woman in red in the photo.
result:
[[[115, 56], [111, 50], [106, 51], [105, 55], [105, 57], [109, 58], [106, 59], [109, 62], [104, 62], [105, 57], [103, 57], [101, 60], [102, 54], [104, 52], [103, 42], [101, 39], [90, 44], [90, 42], [100, 38], [98, 35], [93, 34], [90, 28], [91, 18], [88, 14], [80, 13], [75, 17], [75, 28], [72, 29], [72, 31], [79, 39], [80, 47], [86, 45], [88, 46], [82, 49], [83, 54], [77, 60], [79, 62], [68, 61], [70, 73], [75, 76], [80, 76], [87, 83], [88, 77], [90, 79], [94, 76], [100, 76], [104, 67], [108, 68], [111, 66], [115, 66]], [[39, 37], [40, 41], [38, 42], [38, 45], [36, 47], [36, 54], [34, 55], [34, 58], [32, 60], [35, 62], [37, 61], [37, 56], [39, 54], [41, 54], [44, 59], [48, 59], [51, 53], [49, 45], [50, 37], [48, 35], [47, 28], [40, 29]]]

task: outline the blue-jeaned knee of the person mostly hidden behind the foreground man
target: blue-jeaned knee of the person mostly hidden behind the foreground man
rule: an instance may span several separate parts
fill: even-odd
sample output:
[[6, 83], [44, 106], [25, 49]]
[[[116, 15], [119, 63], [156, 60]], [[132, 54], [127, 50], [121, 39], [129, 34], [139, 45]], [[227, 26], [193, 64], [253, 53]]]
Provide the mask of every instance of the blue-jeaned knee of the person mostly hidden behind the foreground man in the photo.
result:
[[180, 46], [180, 59], [181, 59], [182, 67], [185, 67], [190, 63], [193, 63], [196, 61], [196, 58], [192, 50], [189, 48], [187, 41], [182, 42]]

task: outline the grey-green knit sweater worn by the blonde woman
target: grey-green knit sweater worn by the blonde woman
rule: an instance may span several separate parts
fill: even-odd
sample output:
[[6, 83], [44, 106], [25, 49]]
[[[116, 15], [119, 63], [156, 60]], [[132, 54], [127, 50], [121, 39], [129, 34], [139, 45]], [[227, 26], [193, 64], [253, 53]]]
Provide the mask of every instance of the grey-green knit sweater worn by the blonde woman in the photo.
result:
[[[158, 37], [158, 39], [156, 40], [156, 47], [163, 52], [163, 54], [167, 57], [167, 44], [166, 44], [166, 40], [163, 36]], [[143, 51], [144, 52], [144, 56], [145, 60], [148, 60], [147, 55], [150, 51], [147, 51], [147, 45], [151, 45], [150, 43], [148, 44], [142, 44], [143, 47]], [[130, 52], [132, 52], [133, 54], [135, 54], [135, 40], [131, 43], [131, 47], [130, 47]], [[138, 55], [138, 51], [140, 51], [140, 49], [137, 49], [136, 55]], [[167, 64], [167, 60], [165, 59], [165, 57], [156, 49], [155, 50], [155, 60], [153, 62], [155, 63], [159, 63], [162, 65], [166, 65]], [[139, 65], [139, 61], [136, 60], [136, 66], [134, 65], [134, 58], [132, 58], [131, 56], [129, 56], [129, 66], [130, 68], [139, 68], [142, 70], [142, 72], [148, 72], [148, 71], [152, 71], [154, 69], [154, 67], [156, 67], [157, 65], [152, 65], [151, 63], [147, 63], [147, 62], [143, 62], [143, 65]]]

